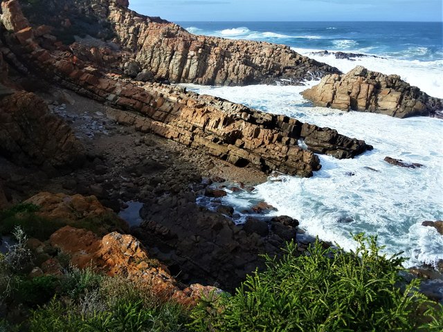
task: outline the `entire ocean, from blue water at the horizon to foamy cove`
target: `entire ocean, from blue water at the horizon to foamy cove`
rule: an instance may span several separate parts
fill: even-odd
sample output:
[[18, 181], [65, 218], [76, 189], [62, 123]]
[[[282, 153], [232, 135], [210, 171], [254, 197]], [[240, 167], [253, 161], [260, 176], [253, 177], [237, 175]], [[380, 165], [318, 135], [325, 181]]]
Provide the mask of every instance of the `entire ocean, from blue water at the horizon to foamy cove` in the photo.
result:
[[[442, 23], [408, 22], [179, 22], [191, 33], [291, 46], [302, 55], [347, 72], [362, 65], [400, 75], [434, 97], [443, 98]], [[363, 53], [355, 61], [319, 50]], [[443, 259], [443, 236], [423, 221], [443, 220], [443, 120], [391, 118], [372, 113], [312, 107], [305, 86], [241, 87], [182, 84], [192, 91], [226, 98], [270, 113], [285, 114], [365, 140], [373, 151], [354, 159], [320, 156], [312, 178], [280, 176], [251, 193], [230, 193], [223, 201], [241, 212], [257, 201], [300, 221], [307, 234], [355, 248], [352, 234], [377, 234], [384, 252], [404, 252], [406, 266], [435, 266]], [[420, 169], [392, 166], [390, 156]]]

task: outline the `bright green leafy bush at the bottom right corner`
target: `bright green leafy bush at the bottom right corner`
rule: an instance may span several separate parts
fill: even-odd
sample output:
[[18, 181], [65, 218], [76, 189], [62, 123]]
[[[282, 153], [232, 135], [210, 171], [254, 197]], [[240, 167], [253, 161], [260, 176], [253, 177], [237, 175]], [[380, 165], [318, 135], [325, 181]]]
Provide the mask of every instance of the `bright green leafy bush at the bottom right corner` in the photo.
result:
[[306, 255], [287, 244], [280, 260], [249, 275], [235, 295], [212, 296], [192, 311], [195, 331], [443, 331], [443, 308], [399, 275], [404, 259], [381, 255], [377, 237], [355, 237], [355, 252]]

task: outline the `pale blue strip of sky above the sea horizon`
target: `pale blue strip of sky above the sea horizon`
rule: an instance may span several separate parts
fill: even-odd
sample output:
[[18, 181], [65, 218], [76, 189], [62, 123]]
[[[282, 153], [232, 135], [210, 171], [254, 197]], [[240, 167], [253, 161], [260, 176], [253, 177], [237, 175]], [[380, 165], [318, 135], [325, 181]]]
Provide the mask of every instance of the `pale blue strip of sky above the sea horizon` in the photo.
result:
[[442, 21], [442, 0], [129, 0], [168, 21]]

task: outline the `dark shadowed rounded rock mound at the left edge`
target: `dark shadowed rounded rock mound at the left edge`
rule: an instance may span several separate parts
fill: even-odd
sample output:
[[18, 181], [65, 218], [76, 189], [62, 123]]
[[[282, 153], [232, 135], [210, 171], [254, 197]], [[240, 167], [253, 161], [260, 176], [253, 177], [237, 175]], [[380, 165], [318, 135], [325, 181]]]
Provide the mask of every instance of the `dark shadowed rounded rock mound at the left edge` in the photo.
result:
[[19, 91], [0, 101], [0, 154], [24, 165], [69, 169], [82, 163], [84, 149], [44, 100]]

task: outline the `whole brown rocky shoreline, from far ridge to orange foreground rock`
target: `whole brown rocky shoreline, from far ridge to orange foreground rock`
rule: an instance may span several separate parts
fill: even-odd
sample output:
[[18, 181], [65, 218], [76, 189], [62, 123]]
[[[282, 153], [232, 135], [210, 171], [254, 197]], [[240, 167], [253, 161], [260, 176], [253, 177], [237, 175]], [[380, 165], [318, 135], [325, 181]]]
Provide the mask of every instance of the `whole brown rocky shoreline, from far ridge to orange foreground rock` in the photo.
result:
[[[235, 183], [230, 190], [247, 190], [274, 171], [312, 176], [321, 167], [316, 154], [354, 158], [372, 149], [334, 129], [170, 85], [300, 84], [325, 77], [321, 88], [331, 77], [345, 77], [286, 46], [191, 35], [137, 15], [125, 0], [51, 0], [46, 12], [41, 5], [2, 1], [0, 27], [0, 209], [28, 199], [48, 210], [45, 218], [70, 221], [50, 239], [31, 241], [35, 252], [57, 248], [73, 264], [93, 261], [111, 275], [154, 280], [157, 293], [195, 304], [202, 291], [215, 289], [199, 284], [233, 291], [264, 267], [262, 255], [279, 257], [301, 232], [289, 216], [263, 217], [272, 209], [266, 202], [255, 209], [260, 218], [236, 225], [232, 207], [217, 202], [211, 211], [199, 197], [226, 195], [224, 181]], [[73, 38], [92, 27], [97, 35]], [[355, 75], [366, 72], [359, 68]], [[429, 100], [438, 102], [395, 82], [413, 101], [397, 100], [406, 113], [393, 116], [424, 114]], [[349, 108], [354, 100], [343, 95]], [[332, 97], [341, 105], [343, 98]], [[141, 223], [114, 222], [115, 212], [131, 202], [143, 204]], [[111, 213], [113, 222], [104, 222], [111, 228], [96, 234], [75, 228], [91, 207], [99, 217]], [[306, 246], [299, 242], [298, 252]], [[57, 257], [43, 258], [37, 274], [60, 270]]]

